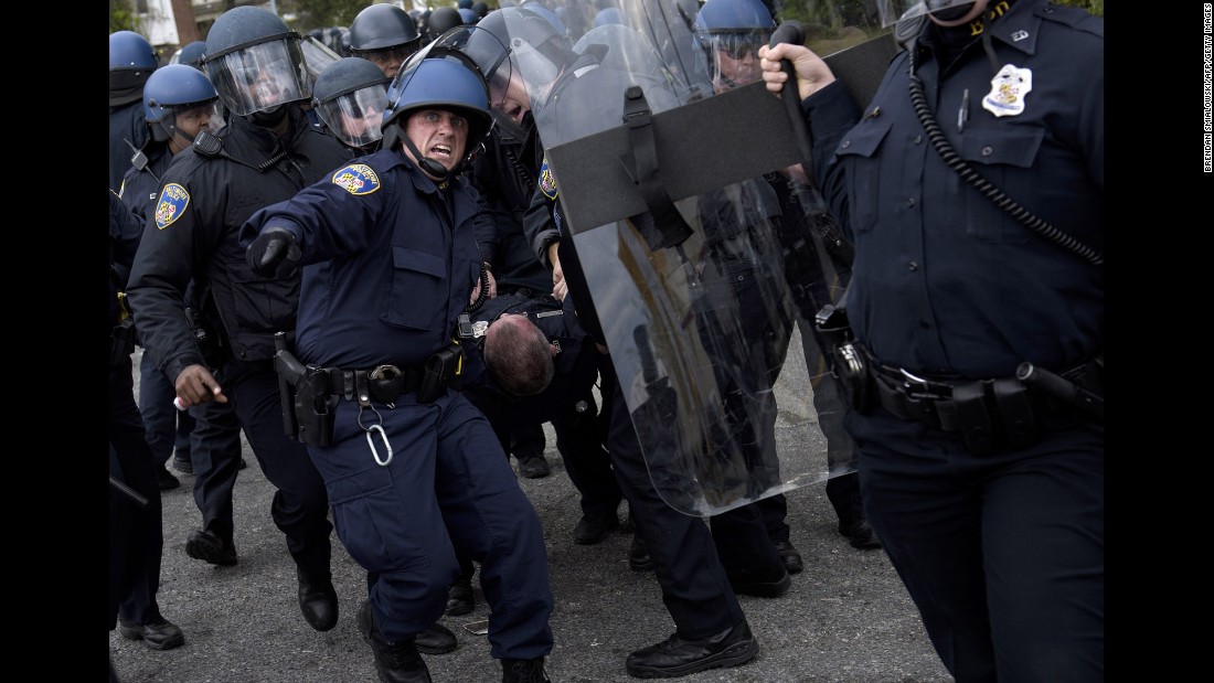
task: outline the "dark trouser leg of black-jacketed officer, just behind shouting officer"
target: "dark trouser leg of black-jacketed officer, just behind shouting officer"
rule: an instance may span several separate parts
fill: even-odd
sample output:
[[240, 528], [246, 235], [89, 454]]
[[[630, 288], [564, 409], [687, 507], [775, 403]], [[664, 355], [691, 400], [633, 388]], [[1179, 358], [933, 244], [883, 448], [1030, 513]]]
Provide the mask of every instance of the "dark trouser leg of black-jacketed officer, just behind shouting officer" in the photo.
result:
[[[277, 489], [270, 512], [274, 525], [287, 536], [287, 550], [308, 576], [329, 577], [333, 524], [328, 519], [324, 480], [307, 448], [283, 432], [273, 360], [228, 360], [223, 375], [223, 392], [236, 408], [257, 465]], [[232, 471], [234, 482], [239, 467], [238, 454], [234, 462], [225, 463], [225, 473]]]

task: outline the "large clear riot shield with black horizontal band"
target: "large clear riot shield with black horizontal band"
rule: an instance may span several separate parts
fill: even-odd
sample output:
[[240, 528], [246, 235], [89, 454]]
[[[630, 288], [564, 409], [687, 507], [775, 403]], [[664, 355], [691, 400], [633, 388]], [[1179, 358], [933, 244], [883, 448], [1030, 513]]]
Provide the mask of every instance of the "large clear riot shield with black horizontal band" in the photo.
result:
[[620, 0], [611, 28], [557, 5], [568, 45], [507, 19], [511, 62], [658, 493], [711, 516], [853, 471], [812, 330], [850, 255], [798, 181], [799, 121], [761, 82], [719, 87], [694, 2]]

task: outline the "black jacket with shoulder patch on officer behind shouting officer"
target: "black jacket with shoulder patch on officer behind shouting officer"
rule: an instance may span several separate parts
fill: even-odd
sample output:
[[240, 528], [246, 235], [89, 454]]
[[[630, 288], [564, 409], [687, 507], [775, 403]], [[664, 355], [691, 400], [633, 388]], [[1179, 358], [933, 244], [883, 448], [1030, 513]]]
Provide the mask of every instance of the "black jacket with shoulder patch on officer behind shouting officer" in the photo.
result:
[[147, 352], [169, 377], [205, 363], [182, 304], [192, 278], [209, 332], [220, 335], [227, 354], [268, 359], [276, 331], [294, 337], [299, 273], [283, 279], [254, 274], [237, 235], [254, 211], [290, 199], [351, 154], [311, 126], [297, 107], [289, 116], [283, 138], [236, 116], [217, 135], [219, 154], [200, 153], [199, 136], [165, 172], [127, 296]]

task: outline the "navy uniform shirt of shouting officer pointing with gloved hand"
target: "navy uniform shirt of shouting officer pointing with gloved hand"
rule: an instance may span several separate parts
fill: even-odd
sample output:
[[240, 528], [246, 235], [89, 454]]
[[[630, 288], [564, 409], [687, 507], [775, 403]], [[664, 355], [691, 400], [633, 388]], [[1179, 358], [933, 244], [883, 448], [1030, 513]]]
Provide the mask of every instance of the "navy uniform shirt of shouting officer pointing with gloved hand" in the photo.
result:
[[304, 280], [296, 355], [371, 369], [419, 365], [446, 348], [480, 278], [473, 223], [481, 205], [455, 176], [442, 187], [397, 150], [354, 159], [293, 199], [254, 214], [295, 234]]

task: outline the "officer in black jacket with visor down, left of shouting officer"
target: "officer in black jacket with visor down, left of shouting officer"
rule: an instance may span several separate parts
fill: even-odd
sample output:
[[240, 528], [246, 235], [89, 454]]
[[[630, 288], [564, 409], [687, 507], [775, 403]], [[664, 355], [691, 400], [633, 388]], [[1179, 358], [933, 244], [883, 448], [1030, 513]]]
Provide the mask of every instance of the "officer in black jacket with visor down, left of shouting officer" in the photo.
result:
[[[271, 513], [296, 564], [300, 609], [313, 628], [328, 631], [337, 622], [329, 503], [306, 449], [283, 433], [272, 364], [273, 334], [295, 325], [299, 280], [256, 277], [237, 244], [237, 230], [253, 211], [290, 198], [350, 158], [307, 124], [299, 106], [311, 95], [299, 41], [299, 34], [260, 7], [237, 7], [216, 19], [204, 67], [232, 116], [219, 133], [199, 133], [165, 171], [129, 296], [146, 352], [174, 377], [183, 408], [231, 400], [257, 462], [278, 489]], [[210, 357], [182, 306], [191, 280], [199, 288], [204, 328], [219, 347]], [[231, 486], [239, 457], [215, 450], [208, 465], [198, 476], [227, 494], [206, 501], [205, 527], [189, 534], [186, 552], [211, 564], [233, 564]]]

